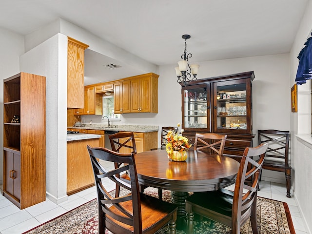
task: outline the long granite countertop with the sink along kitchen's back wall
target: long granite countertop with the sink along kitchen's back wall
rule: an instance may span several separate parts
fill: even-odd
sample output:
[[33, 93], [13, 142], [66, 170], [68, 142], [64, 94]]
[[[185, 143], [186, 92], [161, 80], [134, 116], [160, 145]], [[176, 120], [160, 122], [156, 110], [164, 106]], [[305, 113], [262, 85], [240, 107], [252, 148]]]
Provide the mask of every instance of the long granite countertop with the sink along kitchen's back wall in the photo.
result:
[[107, 124], [86, 124], [83, 127], [70, 126], [68, 129], [91, 129], [91, 130], [116, 130], [122, 132], [137, 132], [137, 133], [149, 133], [158, 132], [158, 126], [150, 125], [111, 125], [109, 128]]

